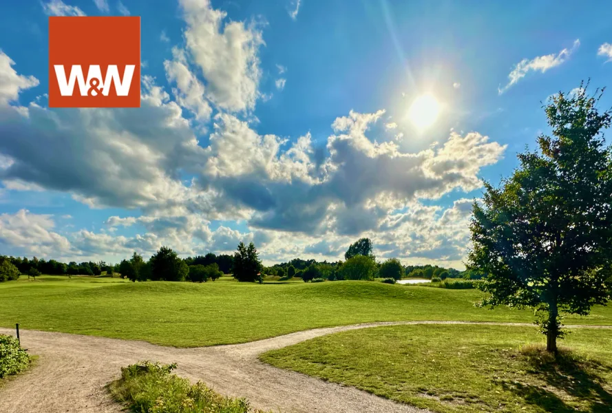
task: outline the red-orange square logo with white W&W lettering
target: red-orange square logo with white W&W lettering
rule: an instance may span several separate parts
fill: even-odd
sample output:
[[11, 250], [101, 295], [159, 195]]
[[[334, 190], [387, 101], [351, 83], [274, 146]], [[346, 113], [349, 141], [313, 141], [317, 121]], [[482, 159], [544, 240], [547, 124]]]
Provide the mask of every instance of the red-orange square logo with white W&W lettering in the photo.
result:
[[140, 107], [140, 17], [50, 17], [49, 107]]

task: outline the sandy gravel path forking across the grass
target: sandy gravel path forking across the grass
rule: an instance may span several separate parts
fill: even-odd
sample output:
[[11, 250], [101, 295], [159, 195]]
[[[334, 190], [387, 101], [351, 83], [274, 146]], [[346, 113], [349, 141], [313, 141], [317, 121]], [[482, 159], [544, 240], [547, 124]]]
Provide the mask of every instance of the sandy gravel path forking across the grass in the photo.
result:
[[[177, 363], [176, 372], [180, 376], [201, 380], [228, 396], [246, 397], [253, 407], [262, 410], [281, 413], [426, 412], [355, 388], [273, 368], [257, 359], [262, 352], [334, 332], [401, 324], [531, 326], [463, 321], [383, 322], [317, 328], [251, 343], [202, 348], [173, 348], [143, 341], [22, 330], [22, 346], [28, 348], [30, 354], [37, 354], [39, 360], [30, 372], [0, 388], [0, 412], [120, 412], [122, 407], [110, 399], [105, 385], [119, 377], [121, 367], [143, 360]], [[13, 334], [14, 331], [0, 328], [0, 333]]]

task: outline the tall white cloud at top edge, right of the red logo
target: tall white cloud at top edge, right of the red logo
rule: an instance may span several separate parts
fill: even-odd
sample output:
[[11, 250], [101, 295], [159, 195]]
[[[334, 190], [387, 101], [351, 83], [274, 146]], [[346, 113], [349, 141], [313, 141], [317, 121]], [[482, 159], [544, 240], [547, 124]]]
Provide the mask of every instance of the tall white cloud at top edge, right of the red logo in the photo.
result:
[[180, 0], [187, 23], [187, 50], [207, 81], [207, 96], [221, 109], [245, 112], [255, 107], [261, 70], [257, 56], [264, 44], [252, 23], [224, 23], [226, 12], [209, 0]]

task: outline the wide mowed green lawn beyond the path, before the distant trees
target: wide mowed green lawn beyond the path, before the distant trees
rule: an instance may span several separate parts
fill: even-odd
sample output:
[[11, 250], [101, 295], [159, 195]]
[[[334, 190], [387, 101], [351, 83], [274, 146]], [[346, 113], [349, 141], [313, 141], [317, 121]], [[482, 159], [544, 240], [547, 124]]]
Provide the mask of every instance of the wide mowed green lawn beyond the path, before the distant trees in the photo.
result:
[[[531, 322], [529, 311], [474, 308], [477, 290], [381, 282], [243, 284], [131, 283], [118, 278], [52, 277], [0, 284], [0, 326], [144, 340], [193, 347], [242, 343], [309, 328], [369, 321]], [[612, 324], [598, 307], [573, 324]]]

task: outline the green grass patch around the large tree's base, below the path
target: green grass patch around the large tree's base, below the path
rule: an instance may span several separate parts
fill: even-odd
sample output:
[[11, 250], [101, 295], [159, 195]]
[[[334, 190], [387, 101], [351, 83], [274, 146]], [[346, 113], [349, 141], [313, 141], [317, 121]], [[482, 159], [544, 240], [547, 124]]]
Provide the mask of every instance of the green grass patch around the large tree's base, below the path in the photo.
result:
[[526, 327], [392, 326], [261, 359], [434, 412], [612, 412], [612, 330], [576, 329], [557, 360], [542, 343]]

